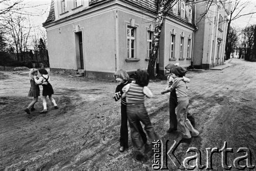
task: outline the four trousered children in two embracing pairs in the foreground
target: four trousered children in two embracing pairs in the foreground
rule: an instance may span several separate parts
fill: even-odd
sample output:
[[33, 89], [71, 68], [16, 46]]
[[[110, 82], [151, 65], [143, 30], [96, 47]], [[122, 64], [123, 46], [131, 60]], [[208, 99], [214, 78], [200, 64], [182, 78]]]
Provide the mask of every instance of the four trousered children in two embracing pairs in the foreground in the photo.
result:
[[[187, 119], [188, 94], [186, 83], [190, 80], [185, 76], [186, 69], [181, 66], [169, 64], [165, 67], [169, 76], [167, 78], [168, 87], [161, 91], [161, 94], [170, 92], [169, 112], [170, 112], [170, 128], [168, 133], [177, 129], [182, 134], [182, 141], [187, 142], [191, 137], [196, 137], [199, 132], [194, 129], [190, 121]], [[120, 148], [123, 152], [128, 148], [128, 129], [127, 120], [129, 121], [131, 138], [137, 152], [136, 159], [144, 158], [145, 145], [150, 144], [154, 140], [160, 139], [154, 131], [150, 117], [144, 106], [145, 96], [153, 97], [153, 93], [147, 87], [149, 76], [144, 70], [137, 70], [135, 74], [129, 75], [126, 71], [120, 69], [114, 74], [116, 81], [120, 84], [116, 88], [114, 95], [115, 101], [121, 99], [121, 128], [120, 128]], [[132, 80], [132, 81], [131, 81]], [[131, 81], [131, 82], [130, 82]], [[175, 108], [177, 107], [177, 113]], [[147, 141], [141, 123], [150, 141]]]

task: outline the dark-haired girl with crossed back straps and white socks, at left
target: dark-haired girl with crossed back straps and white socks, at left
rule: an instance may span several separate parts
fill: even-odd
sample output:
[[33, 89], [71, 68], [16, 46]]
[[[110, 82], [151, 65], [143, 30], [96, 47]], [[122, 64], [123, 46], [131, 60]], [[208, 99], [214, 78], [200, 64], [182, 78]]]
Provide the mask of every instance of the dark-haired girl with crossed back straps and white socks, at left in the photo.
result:
[[41, 76], [39, 77], [38, 80], [34, 76], [34, 80], [36, 84], [42, 84], [42, 105], [44, 106], [44, 109], [40, 111], [40, 113], [47, 112], [47, 103], [46, 103], [47, 95], [49, 96], [49, 99], [52, 101], [54, 108], [58, 109], [58, 106], [52, 97], [52, 94], [54, 92], [53, 92], [52, 85], [50, 84], [50, 78], [48, 76], [47, 70], [42, 68], [42, 69], [39, 69], [38, 72]]

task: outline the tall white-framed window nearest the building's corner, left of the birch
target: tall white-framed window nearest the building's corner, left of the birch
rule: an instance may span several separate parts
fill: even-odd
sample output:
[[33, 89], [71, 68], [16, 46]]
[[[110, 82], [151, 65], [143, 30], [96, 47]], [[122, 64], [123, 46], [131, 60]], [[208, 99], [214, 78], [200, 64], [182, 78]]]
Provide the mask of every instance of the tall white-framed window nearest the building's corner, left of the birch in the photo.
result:
[[127, 58], [135, 59], [135, 30], [136, 28], [127, 27]]

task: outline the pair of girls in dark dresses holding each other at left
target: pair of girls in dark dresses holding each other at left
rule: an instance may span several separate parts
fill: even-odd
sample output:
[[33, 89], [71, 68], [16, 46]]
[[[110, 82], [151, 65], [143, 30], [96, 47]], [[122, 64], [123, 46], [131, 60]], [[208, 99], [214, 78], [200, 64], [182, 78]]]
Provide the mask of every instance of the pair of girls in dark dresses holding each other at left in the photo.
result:
[[[38, 72], [40, 74], [39, 77], [37, 77]], [[30, 111], [35, 110], [34, 105], [38, 101], [38, 96], [40, 96], [39, 85], [42, 85], [42, 105], [44, 106], [44, 109], [40, 111], [40, 113], [47, 113], [47, 103], [46, 103], [47, 95], [49, 96], [49, 99], [52, 101], [54, 108], [58, 109], [58, 106], [52, 97], [52, 94], [54, 94], [54, 91], [53, 91], [52, 85], [50, 84], [50, 78], [48, 76], [47, 70], [44, 68], [41, 68], [39, 70], [32, 68], [29, 71], [29, 77], [30, 77], [30, 90], [29, 90], [28, 96], [34, 97], [33, 101], [24, 110], [29, 114], [29, 118], [31, 118]]]

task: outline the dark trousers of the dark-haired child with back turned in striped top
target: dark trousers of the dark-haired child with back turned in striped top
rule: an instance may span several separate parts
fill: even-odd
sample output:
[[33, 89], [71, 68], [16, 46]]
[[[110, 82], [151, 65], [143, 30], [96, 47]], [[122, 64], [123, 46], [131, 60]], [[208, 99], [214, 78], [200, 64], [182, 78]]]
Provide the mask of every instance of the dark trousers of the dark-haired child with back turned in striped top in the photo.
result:
[[154, 128], [152, 127], [150, 117], [148, 117], [147, 115], [147, 111], [144, 104], [127, 104], [127, 117], [130, 124], [131, 137], [135, 149], [141, 155], [144, 155], [145, 143], [142, 140], [141, 134], [139, 132], [140, 128], [138, 127], [138, 125], [140, 125], [140, 121], [144, 124], [144, 129], [147, 133], [148, 138], [150, 138], [151, 142], [153, 140], [158, 140], [160, 138], [154, 131]]

